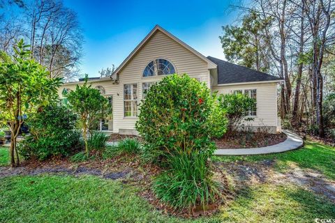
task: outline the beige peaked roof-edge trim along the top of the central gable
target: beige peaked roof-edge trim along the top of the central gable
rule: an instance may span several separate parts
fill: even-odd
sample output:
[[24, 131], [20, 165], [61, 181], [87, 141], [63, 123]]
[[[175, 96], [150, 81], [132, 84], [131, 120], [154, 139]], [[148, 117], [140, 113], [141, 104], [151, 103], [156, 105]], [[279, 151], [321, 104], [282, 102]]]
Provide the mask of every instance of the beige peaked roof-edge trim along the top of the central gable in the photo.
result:
[[204, 60], [205, 62], [207, 62], [208, 64], [208, 68], [209, 69], [214, 69], [216, 68], [216, 64], [213, 63], [211, 60], [207, 59], [206, 56], [200, 54], [200, 52], [196, 51], [195, 49], [193, 49], [192, 47], [190, 47], [189, 45], [187, 45], [186, 43], [184, 43], [183, 41], [179, 40], [179, 38], [173, 36], [171, 33], [169, 33], [168, 31], [166, 31], [165, 29], [163, 29], [161, 26], [156, 25], [154, 27], [154, 29], [152, 29], [150, 31], [150, 33], [141, 41], [141, 43], [139, 45], [137, 45], [137, 47], [135, 47], [135, 49], [133, 50], [133, 52], [131, 52], [131, 54], [129, 54], [129, 56], [127, 56], [127, 58], [121, 63], [121, 65], [117, 68], [117, 70], [115, 70], [112, 75], [110, 76], [112, 78], [113, 75], [117, 74], [118, 72], [120, 72], [122, 70], [122, 68], [124, 68], [124, 66], [126, 66], [126, 64], [131, 61], [131, 59], [133, 58], [133, 56], [135, 56], [135, 54], [145, 45], [145, 43], [147, 43], [147, 41], [150, 40], [151, 36], [154, 36], [154, 34], [156, 33], [156, 31], [161, 31], [162, 33], [164, 33], [166, 36], [169, 36], [170, 38], [172, 38], [172, 40], [176, 41], [177, 43], [179, 43], [181, 46], [185, 47], [186, 49], [188, 49], [190, 52], [192, 52], [193, 54], [195, 54], [196, 56], [198, 56], [200, 59]]

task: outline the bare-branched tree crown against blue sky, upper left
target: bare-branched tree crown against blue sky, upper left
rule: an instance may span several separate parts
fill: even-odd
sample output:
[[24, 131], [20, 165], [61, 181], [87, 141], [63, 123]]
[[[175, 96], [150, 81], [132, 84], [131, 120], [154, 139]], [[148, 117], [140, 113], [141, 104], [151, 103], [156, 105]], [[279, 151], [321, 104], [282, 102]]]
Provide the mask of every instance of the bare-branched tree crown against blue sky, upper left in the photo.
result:
[[47, 67], [50, 77], [69, 81], [78, 76], [82, 29], [77, 14], [62, 1], [27, 0], [24, 7], [6, 4], [0, 18], [0, 47], [12, 53], [10, 49], [18, 38], [30, 43], [31, 58]]

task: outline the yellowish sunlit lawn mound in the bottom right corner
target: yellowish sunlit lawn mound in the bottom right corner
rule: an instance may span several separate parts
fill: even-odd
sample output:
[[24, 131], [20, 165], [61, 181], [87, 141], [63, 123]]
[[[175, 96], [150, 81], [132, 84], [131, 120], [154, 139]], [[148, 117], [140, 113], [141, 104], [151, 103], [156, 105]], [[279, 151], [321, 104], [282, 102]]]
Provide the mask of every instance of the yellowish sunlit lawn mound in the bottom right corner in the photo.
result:
[[313, 222], [332, 218], [333, 203], [300, 187], [253, 185], [221, 209], [223, 222]]

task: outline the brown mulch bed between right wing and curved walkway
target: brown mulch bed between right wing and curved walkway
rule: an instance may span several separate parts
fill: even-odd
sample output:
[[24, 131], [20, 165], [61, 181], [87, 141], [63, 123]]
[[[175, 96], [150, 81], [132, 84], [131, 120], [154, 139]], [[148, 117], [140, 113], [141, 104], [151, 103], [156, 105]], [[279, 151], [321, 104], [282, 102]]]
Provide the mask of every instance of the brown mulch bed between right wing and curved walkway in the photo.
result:
[[235, 132], [215, 139], [217, 148], [260, 148], [279, 144], [287, 139], [286, 134]]

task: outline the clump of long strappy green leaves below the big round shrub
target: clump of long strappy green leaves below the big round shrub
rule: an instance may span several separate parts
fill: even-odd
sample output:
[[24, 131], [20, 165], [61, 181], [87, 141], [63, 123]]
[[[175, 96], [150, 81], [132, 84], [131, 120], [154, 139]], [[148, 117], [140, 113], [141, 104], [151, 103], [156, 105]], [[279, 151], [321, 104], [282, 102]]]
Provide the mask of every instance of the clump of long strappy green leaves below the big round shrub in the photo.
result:
[[182, 153], [169, 159], [171, 169], [154, 180], [154, 192], [161, 201], [174, 208], [191, 210], [214, 202], [219, 185], [212, 180], [204, 153]]

